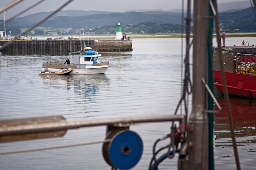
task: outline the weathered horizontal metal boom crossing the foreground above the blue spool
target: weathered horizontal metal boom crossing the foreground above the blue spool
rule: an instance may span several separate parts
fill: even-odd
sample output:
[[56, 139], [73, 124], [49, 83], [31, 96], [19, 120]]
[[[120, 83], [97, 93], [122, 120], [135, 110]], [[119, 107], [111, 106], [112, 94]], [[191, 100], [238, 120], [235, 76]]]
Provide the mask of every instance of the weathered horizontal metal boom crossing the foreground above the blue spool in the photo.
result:
[[47, 116], [39, 118], [25, 118], [0, 120], [0, 140], [6, 135], [22, 135], [28, 133], [45, 133], [54, 131], [66, 131], [68, 129], [78, 129], [81, 127], [114, 125], [123, 126], [135, 123], [149, 122], [184, 122], [182, 115], [164, 115], [164, 116], [143, 116], [132, 118], [108, 118], [100, 120], [84, 120], [67, 122], [63, 116]]

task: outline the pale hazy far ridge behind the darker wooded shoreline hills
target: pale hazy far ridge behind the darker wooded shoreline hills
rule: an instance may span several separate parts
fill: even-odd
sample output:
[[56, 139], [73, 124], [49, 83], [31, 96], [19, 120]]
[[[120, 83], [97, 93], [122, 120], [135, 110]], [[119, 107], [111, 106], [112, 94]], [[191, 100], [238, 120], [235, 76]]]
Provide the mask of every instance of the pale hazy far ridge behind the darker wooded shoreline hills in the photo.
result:
[[[249, 1], [219, 3], [220, 13], [230, 13], [241, 11], [251, 7]], [[61, 10], [51, 19], [44, 22], [41, 27], [52, 28], [73, 28], [78, 29], [83, 25], [88, 28], [97, 28], [106, 25], [115, 25], [118, 21], [121, 24], [138, 24], [140, 22], [153, 22], [156, 24], [180, 24], [181, 9], [164, 11], [162, 9], [148, 9], [129, 11], [124, 13], [114, 13], [108, 11], [83, 11], [83, 10]], [[50, 12], [35, 13], [24, 17], [18, 17], [8, 22], [7, 26], [17, 28], [29, 28], [37, 22], [43, 20]], [[186, 16], [186, 13], [184, 14]], [[192, 16], [193, 17], [193, 16]]]

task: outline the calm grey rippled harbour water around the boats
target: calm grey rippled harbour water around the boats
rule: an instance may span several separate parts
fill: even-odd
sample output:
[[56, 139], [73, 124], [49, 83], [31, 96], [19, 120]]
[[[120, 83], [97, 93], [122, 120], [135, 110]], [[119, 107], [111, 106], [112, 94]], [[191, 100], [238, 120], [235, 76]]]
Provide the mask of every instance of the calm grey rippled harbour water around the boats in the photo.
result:
[[[226, 44], [240, 41], [236, 38], [234, 41], [227, 40]], [[256, 42], [256, 39], [252, 41]], [[102, 75], [38, 76], [43, 62], [65, 62], [67, 56], [1, 56], [0, 119], [63, 115], [69, 121], [173, 115], [182, 89], [181, 39], [133, 39], [132, 48], [132, 52], [101, 53], [101, 60], [110, 60], [111, 65]], [[72, 61], [72, 57], [68, 57]], [[222, 97], [218, 100], [225, 108]], [[231, 109], [241, 167], [253, 169], [256, 166], [256, 103], [234, 99], [231, 100]], [[150, 123], [130, 126], [144, 142], [143, 156], [134, 169], [148, 168], [155, 140], [169, 133], [170, 125]], [[228, 132], [227, 115], [223, 109], [223, 113], [215, 115], [216, 170], [236, 169]], [[105, 133], [105, 126], [69, 130], [60, 138], [3, 143], [0, 144], [0, 151], [99, 141], [105, 138]], [[166, 142], [160, 143], [159, 147]], [[111, 169], [102, 157], [101, 147], [102, 144], [95, 144], [0, 155], [0, 169]], [[159, 167], [177, 169], [177, 155], [174, 159], [166, 159]]]

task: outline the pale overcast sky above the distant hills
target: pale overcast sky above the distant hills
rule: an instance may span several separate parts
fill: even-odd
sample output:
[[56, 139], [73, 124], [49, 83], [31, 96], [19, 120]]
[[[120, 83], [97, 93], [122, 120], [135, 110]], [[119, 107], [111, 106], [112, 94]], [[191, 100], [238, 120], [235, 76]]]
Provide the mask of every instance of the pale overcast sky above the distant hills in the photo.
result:
[[[13, 0], [0, 0], [0, 6], [3, 7], [5, 4], [12, 2]], [[27, 9], [31, 5], [39, 2], [40, 0], [23, 0], [16, 6], [7, 10], [5, 14], [6, 19], [12, 17], [18, 12]], [[243, 0], [218, 0], [218, 3], [234, 2]], [[249, 0], [248, 0], [249, 1]], [[33, 9], [28, 10], [22, 16], [29, 15], [31, 13], [39, 12], [50, 12], [56, 10], [67, 0], [45, 0]], [[184, 0], [184, 4], [187, 0]], [[80, 9], [84, 11], [112, 11], [112, 12], [124, 12], [128, 10], [139, 10], [139, 9], [181, 9], [182, 0], [73, 0], [68, 4], [64, 10], [67, 9]], [[0, 14], [0, 20], [3, 20], [3, 14]]]

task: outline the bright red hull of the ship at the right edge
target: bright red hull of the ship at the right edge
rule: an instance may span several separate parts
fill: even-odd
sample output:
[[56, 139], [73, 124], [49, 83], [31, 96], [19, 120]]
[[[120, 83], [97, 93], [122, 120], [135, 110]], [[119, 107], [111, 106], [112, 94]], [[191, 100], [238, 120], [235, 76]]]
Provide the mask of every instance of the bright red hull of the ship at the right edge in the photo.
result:
[[[223, 93], [220, 71], [213, 70], [214, 85]], [[256, 98], [256, 76], [225, 72], [227, 91], [230, 95], [245, 98]]]

